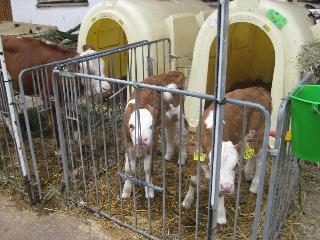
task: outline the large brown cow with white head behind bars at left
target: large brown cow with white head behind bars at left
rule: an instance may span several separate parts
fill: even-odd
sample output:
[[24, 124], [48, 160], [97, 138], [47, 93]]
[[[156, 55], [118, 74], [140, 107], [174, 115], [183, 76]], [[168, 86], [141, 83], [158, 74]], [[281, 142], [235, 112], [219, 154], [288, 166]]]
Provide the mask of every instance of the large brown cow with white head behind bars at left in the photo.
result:
[[[43, 41], [24, 38], [17, 36], [5, 36], [2, 37], [4, 55], [7, 65], [7, 70], [10, 78], [12, 79], [12, 85], [14, 90], [19, 91], [19, 74], [22, 70], [35, 67], [38, 65], [48, 64], [76, 56], [83, 56], [96, 53], [92, 47], [85, 46], [82, 54], [76, 51], [65, 49], [59, 46], [47, 44]], [[42, 99], [44, 105], [48, 105], [49, 97], [53, 95], [52, 87], [52, 72], [55, 65], [51, 64], [47, 69], [41, 69], [35, 72], [34, 75], [30, 71], [23, 75], [23, 89], [24, 94], [29, 96], [38, 96]], [[92, 75], [103, 75], [104, 62], [102, 59], [93, 59], [89, 62], [85, 62], [80, 66], [75, 66], [75, 69], [81, 72], [89, 73]], [[76, 83], [79, 84], [79, 88], [83, 89], [84, 84], [88, 84], [88, 81], [76, 78]], [[62, 92], [62, 82], [57, 81], [58, 91]], [[92, 81], [90, 84], [90, 94], [102, 93], [109, 94], [111, 87], [107, 81], [102, 81], [101, 86], [99, 81]], [[49, 114], [51, 112], [49, 111]], [[55, 111], [53, 110], [53, 114]], [[51, 119], [51, 116], [49, 117]], [[54, 119], [54, 129], [57, 135], [57, 125]], [[49, 120], [49, 124], [52, 122]], [[57, 138], [58, 148], [59, 139]]]

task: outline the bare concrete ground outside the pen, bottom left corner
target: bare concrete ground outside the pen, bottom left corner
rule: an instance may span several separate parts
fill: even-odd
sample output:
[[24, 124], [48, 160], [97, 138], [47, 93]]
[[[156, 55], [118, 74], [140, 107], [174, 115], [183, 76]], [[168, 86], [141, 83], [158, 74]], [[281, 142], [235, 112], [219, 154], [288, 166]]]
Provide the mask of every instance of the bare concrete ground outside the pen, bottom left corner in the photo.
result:
[[97, 217], [37, 211], [23, 201], [12, 201], [0, 191], [0, 240], [109, 240], [137, 239], [115, 224], [101, 228]]

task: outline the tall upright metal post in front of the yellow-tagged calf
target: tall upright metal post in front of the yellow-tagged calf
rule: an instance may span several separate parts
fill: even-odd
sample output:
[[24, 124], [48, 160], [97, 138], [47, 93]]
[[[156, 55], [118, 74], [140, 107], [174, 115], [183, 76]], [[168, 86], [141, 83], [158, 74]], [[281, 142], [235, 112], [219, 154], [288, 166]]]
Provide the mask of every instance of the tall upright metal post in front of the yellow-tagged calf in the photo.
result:
[[211, 155], [211, 180], [209, 189], [209, 217], [208, 217], [208, 239], [216, 239], [217, 209], [219, 197], [219, 181], [221, 166], [221, 142], [223, 136], [223, 114], [224, 106], [221, 104], [225, 98], [227, 51], [228, 51], [228, 25], [229, 25], [229, 0], [220, 0], [217, 17], [217, 61], [216, 61], [216, 97], [218, 103], [215, 105], [215, 117], [213, 124], [214, 143]]

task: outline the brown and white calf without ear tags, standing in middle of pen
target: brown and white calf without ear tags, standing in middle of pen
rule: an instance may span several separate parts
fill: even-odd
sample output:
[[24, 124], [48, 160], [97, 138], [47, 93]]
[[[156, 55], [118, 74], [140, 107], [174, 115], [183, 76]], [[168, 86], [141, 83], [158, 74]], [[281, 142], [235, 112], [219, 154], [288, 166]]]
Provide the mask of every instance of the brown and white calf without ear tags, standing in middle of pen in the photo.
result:
[[[178, 71], [149, 77], [142, 81], [145, 84], [167, 87], [170, 89], [182, 89], [184, 87], [185, 76]], [[136, 91], [128, 101], [124, 113], [124, 127], [128, 141], [128, 151], [126, 153], [125, 172], [133, 176], [136, 170], [136, 158], [143, 157], [144, 172], [146, 182], [152, 184], [152, 158], [151, 150], [154, 149], [158, 129], [161, 124], [161, 95], [150, 89], [140, 89], [136, 98]], [[139, 103], [138, 103], [139, 102]], [[184, 108], [180, 105], [180, 96], [169, 92], [163, 93], [164, 130], [166, 135], [166, 160], [171, 160], [176, 133], [182, 134], [185, 139], [187, 122], [184, 117]], [[180, 129], [180, 111], [182, 119]], [[181, 164], [185, 164], [186, 149], [182, 144]], [[151, 149], [153, 148], [153, 149]], [[154, 151], [152, 151], [154, 152]], [[154, 189], [145, 187], [146, 198], [154, 197]], [[130, 197], [132, 192], [132, 181], [126, 180], [122, 198]]]

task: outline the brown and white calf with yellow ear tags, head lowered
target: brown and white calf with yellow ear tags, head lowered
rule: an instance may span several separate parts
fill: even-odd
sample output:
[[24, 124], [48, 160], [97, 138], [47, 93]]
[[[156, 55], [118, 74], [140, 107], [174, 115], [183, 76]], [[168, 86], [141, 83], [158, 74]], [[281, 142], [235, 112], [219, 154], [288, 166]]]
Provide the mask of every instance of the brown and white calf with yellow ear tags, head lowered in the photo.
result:
[[[261, 87], [237, 89], [227, 93], [226, 97], [258, 103], [263, 105], [268, 111], [271, 112], [272, 110], [270, 92]], [[207, 156], [205, 161], [201, 162], [201, 169], [205, 173], [206, 179], [210, 179], [209, 163], [211, 162], [212, 154], [213, 108], [214, 104], [211, 104], [205, 110], [201, 122], [201, 151]], [[224, 130], [219, 182], [220, 195], [217, 216], [219, 224], [226, 224], [227, 222], [223, 194], [234, 192], [235, 167], [238, 162], [236, 145], [241, 142], [243, 126], [243, 113], [241, 109], [240, 106], [231, 104], [226, 104], [224, 108]], [[251, 108], [247, 110], [247, 130], [245, 134], [245, 145], [254, 149], [255, 156], [247, 160], [244, 173], [247, 181], [252, 180], [250, 191], [256, 193], [259, 185], [259, 168], [264, 135], [264, 115], [261, 111]], [[195, 165], [194, 171], [191, 176], [188, 193], [182, 203], [186, 209], [189, 209], [194, 201], [197, 185], [197, 161], [192, 162]]]

